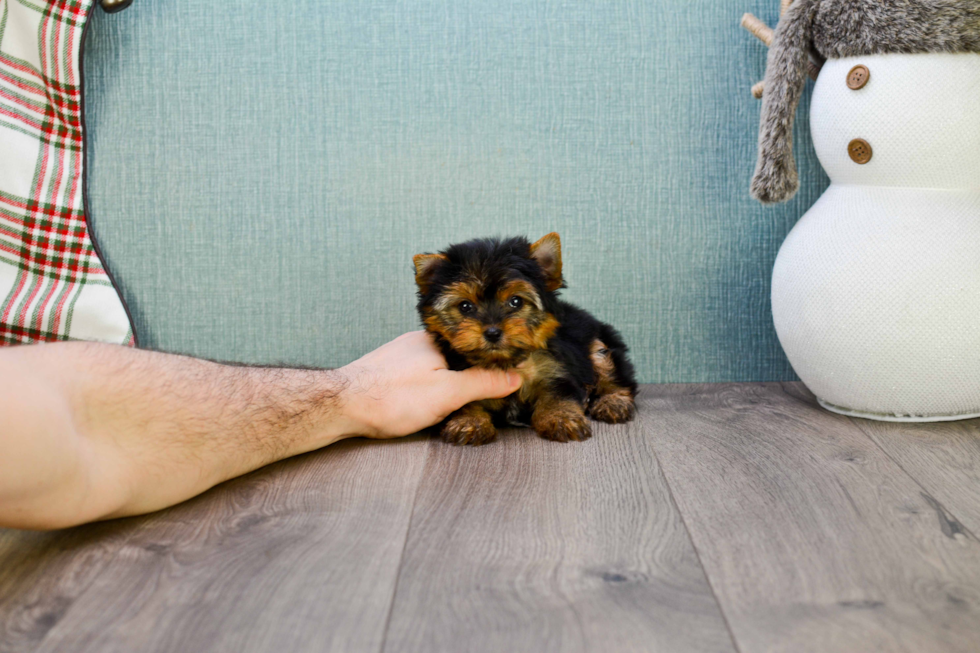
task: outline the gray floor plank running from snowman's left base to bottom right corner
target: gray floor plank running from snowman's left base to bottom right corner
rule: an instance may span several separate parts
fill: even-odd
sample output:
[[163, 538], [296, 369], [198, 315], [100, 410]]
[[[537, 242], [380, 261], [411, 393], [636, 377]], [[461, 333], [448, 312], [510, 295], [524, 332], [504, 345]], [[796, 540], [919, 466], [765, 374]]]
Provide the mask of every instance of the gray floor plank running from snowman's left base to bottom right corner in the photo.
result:
[[796, 385], [648, 388], [641, 419], [742, 653], [977, 651], [980, 542]]

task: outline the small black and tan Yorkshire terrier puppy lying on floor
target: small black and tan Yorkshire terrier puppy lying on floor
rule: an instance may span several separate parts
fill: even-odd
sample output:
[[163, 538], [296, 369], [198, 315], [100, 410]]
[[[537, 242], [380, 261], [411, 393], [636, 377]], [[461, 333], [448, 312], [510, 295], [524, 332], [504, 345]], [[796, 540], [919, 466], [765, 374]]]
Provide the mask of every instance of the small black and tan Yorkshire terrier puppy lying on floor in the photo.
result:
[[592, 437], [586, 413], [619, 423], [636, 413], [636, 381], [619, 333], [558, 298], [561, 241], [548, 234], [479, 239], [414, 258], [419, 315], [450, 369], [515, 368], [520, 390], [478, 401], [441, 427], [452, 444], [486, 444], [498, 424], [530, 424], [557, 442]]

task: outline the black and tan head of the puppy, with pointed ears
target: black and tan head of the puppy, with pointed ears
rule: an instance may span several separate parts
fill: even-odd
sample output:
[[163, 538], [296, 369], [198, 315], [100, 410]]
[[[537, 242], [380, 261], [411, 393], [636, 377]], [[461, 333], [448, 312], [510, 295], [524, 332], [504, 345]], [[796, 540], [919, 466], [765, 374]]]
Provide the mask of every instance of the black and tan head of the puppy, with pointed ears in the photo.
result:
[[513, 367], [558, 329], [555, 292], [565, 284], [556, 233], [533, 244], [471, 240], [413, 261], [422, 323], [472, 365]]

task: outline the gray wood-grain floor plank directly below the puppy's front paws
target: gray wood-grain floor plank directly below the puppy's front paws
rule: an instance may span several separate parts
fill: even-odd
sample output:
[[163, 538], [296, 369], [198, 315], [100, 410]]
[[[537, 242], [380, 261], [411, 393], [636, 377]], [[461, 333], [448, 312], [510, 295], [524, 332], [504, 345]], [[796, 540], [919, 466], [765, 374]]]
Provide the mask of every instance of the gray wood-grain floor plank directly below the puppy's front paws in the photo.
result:
[[385, 652], [733, 651], [638, 425], [434, 441]]

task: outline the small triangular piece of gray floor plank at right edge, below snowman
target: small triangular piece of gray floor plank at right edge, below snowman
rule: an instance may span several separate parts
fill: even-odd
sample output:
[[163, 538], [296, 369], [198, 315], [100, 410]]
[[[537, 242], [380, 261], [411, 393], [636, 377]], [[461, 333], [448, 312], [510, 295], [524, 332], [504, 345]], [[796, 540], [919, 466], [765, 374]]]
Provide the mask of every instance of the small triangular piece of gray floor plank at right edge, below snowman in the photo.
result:
[[940, 517], [948, 530], [960, 528], [962, 522], [980, 537], [980, 420], [934, 424], [851, 421], [948, 509], [949, 514]]

